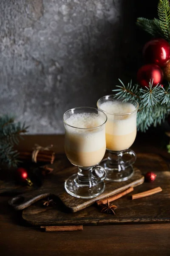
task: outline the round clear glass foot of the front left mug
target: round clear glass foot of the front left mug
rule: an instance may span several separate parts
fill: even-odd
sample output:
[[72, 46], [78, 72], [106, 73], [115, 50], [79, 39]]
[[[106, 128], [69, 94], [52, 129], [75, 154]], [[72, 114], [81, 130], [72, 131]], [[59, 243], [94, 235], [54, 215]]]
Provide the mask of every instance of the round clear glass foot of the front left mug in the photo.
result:
[[77, 174], [74, 174], [65, 180], [65, 190], [76, 198], [95, 198], [105, 190], [105, 183], [102, 181], [98, 184], [92, 182], [82, 184], [78, 182]]

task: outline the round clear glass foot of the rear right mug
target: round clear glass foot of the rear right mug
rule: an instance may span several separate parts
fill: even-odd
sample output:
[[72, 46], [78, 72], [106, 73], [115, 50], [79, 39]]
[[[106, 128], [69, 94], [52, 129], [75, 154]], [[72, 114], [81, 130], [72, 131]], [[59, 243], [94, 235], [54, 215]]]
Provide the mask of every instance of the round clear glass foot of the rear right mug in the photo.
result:
[[104, 167], [106, 172], [107, 172], [107, 177], [106, 177], [105, 180], [116, 181], [116, 182], [125, 181], [125, 180], [130, 179], [134, 174], [134, 170], [133, 170], [132, 165], [130, 165], [127, 168], [122, 169], [120, 171], [118, 169], [118, 166], [108, 167], [107, 163], [108, 163], [108, 160], [103, 160], [100, 163], [100, 166]]

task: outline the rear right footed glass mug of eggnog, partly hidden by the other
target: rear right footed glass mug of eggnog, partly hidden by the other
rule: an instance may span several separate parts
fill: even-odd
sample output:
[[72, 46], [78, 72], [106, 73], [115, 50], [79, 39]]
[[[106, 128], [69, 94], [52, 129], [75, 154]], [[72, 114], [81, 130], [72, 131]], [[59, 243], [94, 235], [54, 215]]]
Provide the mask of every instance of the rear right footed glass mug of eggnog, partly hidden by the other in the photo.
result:
[[128, 148], [136, 138], [138, 102], [133, 99], [123, 102], [121, 99], [116, 100], [114, 95], [108, 95], [98, 100], [97, 107], [108, 116], [106, 122], [108, 159], [101, 163], [107, 171], [106, 180], [128, 180], [133, 175], [132, 164], [136, 161], [135, 152]]

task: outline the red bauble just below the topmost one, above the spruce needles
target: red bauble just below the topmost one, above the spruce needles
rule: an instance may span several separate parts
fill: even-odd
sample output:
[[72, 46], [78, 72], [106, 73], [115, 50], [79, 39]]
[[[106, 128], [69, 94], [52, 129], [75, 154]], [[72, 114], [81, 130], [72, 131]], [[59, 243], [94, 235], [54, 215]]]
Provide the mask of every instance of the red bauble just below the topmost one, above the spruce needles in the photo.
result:
[[157, 84], [161, 84], [163, 77], [163, 71], [155, 64], [146, 64], [139, 68], [137, 73], [137, 81], [142, 87], [149, 87], [149, 82], [152, 83], [152, 80], [152, 87], [155, 87]]

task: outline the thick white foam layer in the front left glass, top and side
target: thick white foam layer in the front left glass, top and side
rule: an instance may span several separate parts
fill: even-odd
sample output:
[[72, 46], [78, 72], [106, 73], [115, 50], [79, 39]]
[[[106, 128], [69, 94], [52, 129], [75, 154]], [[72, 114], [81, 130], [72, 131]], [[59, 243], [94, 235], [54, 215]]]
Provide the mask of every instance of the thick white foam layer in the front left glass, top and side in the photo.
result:
[[65, 126], [65, 140], [70, 150], [93, 152], [105, 147], [105, 126], [96, 128], [104, 122], [105, 119], [96, 113], [79, 113], [66, 119], [66, 123], [73, 126]]

